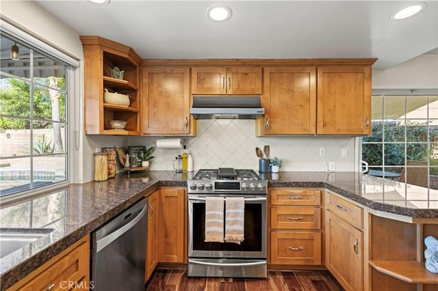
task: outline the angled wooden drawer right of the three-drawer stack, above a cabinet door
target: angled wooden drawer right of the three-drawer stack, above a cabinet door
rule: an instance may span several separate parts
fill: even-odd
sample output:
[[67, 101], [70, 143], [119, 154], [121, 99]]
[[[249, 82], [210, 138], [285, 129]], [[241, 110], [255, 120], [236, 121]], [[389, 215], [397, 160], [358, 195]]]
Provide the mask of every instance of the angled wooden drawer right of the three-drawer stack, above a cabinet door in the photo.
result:
[[342, 217], [352, 225], [363, 228], [363, 209], [345, 199], [329, 194], [328, 208], [331, 212]]

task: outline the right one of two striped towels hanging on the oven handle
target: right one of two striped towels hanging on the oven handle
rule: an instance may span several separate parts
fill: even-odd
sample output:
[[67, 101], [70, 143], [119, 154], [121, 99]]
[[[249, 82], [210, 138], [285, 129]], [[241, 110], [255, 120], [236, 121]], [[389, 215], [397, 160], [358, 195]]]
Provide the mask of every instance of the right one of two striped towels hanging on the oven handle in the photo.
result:
[[244, 241], [245, 198], [227, 197], [225, 199], [225, 243]]

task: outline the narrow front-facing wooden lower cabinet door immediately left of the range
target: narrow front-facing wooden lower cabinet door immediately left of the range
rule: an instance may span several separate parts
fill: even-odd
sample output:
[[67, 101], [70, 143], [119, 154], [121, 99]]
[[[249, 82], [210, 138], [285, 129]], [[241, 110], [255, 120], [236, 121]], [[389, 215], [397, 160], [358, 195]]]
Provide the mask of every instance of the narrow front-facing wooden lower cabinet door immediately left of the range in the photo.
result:
[[187, 192], [163, 187], [159, 195], [158, 261], [187, 262]]

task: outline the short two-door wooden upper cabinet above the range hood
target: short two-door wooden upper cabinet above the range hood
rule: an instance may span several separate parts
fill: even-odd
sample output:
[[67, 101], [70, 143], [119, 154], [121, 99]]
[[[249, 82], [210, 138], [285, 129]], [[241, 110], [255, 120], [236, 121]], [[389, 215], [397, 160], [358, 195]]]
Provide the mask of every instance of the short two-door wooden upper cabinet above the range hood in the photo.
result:
[[261, 67], [193, 67], [192, 94], [260, 95]]

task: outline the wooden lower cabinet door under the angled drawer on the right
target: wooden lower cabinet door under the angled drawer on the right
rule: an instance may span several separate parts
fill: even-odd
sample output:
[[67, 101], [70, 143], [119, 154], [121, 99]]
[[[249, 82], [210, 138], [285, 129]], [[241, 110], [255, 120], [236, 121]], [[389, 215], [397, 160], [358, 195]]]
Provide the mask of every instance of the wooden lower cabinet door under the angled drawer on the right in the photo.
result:
[[346, 290], [363, 290], [363, 233], [329, 211], [326, 267]]

